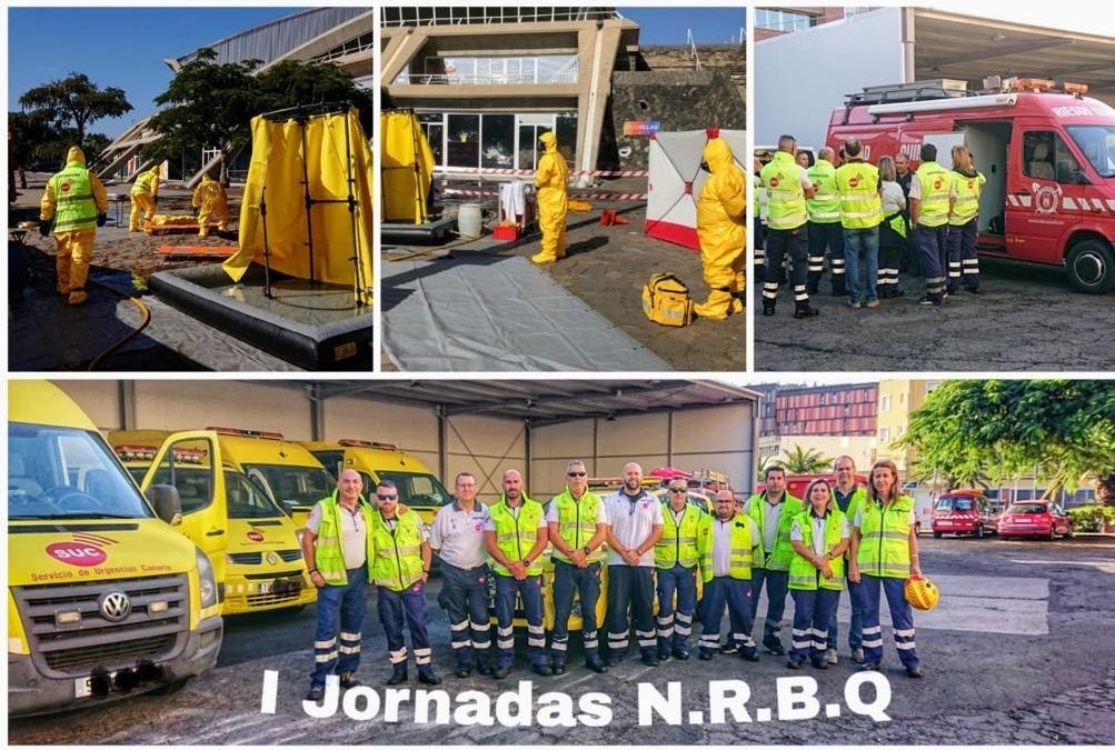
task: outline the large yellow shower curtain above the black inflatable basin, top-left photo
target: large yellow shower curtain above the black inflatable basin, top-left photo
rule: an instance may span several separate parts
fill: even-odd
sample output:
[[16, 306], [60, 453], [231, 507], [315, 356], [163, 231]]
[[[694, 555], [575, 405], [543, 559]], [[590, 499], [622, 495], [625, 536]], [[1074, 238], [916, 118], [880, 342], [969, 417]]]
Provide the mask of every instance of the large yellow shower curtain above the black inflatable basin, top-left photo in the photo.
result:
[[[371, 147], [353, 108], [303, 118], [301, 123], [293, 118], [283, 123], [263, 116], [252, 118], [252, 162], [240, 208], [240, 252], [222, 264], [225, 272], [240, 281], [255, 261], [298, 279], [352, 286], [356, 269], [358, 302], [371, 304]], [[310, 227], [303, 174], [313, 198]], [[350, 174], [355, 181], [356, 253], [348, 206]], [[261, 215], [264, 203], [265, 227]]]

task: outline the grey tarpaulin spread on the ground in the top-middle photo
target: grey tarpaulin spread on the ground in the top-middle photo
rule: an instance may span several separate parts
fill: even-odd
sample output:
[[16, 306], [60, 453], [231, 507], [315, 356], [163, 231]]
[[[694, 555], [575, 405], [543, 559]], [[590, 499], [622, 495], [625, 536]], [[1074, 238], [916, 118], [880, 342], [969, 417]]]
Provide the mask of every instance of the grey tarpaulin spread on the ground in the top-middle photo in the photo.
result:
[[526, 259], [477, 253], [382, 272], [384, 347], [400, 370], [672, 369]]

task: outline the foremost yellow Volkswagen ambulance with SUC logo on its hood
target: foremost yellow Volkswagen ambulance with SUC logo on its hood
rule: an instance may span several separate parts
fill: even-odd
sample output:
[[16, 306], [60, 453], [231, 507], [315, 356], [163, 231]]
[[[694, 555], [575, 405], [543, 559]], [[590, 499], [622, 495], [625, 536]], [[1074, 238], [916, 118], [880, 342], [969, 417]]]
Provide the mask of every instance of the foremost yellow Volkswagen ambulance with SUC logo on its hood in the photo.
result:
[[216, 663], [209, 557], [46, 381], [8, 386], [8, 713], [173, 692]]

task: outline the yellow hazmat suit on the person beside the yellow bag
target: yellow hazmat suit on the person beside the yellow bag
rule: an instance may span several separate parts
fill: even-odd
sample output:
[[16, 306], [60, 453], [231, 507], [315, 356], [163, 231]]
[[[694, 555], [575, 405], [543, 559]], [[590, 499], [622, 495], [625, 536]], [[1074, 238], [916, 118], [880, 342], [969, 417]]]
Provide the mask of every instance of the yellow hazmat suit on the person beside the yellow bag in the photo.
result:
[[697, 237], [710, 291], [694, 311], [723, 320], [744, 311], [744, 172], [723, 138], [709, 138], [702, 157], [710, 176], [697, 198]]

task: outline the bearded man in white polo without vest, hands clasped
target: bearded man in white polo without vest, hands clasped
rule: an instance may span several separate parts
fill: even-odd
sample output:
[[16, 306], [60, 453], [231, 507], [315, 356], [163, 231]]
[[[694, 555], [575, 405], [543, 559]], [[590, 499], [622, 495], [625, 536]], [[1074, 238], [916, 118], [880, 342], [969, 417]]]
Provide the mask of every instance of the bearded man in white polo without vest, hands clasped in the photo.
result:
[[642, 467], [623, 467], [623, 487], [604, 500], [608, 509], [608, 658], [614, 666], [627, 655], [631, 620], [642, 663], [658, 666], [655, 545], [662, 536], [662, 504], [642, 486]]

